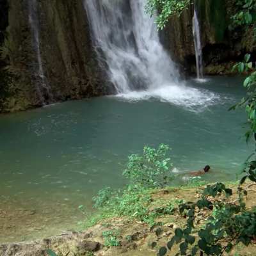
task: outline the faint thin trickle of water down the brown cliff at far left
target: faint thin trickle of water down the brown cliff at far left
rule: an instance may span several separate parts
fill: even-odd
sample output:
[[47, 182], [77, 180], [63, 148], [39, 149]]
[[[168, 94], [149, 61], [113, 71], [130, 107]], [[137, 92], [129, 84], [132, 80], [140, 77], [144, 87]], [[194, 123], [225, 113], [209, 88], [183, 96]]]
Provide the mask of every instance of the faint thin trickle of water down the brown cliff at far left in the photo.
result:
[[45, 99], [47, 102], [53, 101], [53, 96], [51, 93], [51, 86], [47, 81], [47, 77], [44, 74], [44, 68], [42, 63], [42, 57], [40, 52], [40, 34], [39, 34], [39, 19], [38, 19], [38, 3], [37, 0], [28, 0], [28, 10], [29, 10], [29, 25], [31, 28], [31, 33], [33, 35], [33, 48], [36, 52], [36, 64], [35, 64], [35, 75], [36, 75], [36, 92], [40, 98], [40, 102], [45, 104]]

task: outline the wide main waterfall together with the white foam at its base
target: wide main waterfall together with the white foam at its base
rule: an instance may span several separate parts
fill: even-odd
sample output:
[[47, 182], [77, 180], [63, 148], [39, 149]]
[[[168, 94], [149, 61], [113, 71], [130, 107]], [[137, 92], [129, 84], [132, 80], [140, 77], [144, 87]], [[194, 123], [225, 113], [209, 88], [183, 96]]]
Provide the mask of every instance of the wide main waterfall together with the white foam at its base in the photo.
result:
[[[84, 0], [93, 42], [117, 96], [182, 106], [212, 104], [214, 93], [185, 86], [164, 51], [146, 0]], [[105, 65], [106, 64], [106, 65]]]

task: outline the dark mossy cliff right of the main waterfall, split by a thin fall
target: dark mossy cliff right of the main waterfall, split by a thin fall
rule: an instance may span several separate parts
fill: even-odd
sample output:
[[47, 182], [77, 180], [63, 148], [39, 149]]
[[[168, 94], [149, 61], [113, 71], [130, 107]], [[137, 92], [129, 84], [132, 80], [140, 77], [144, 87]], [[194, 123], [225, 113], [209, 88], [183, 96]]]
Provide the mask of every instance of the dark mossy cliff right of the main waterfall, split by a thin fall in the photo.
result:
[[[235, 0], [197, 0], [200, 19], [205, 74], [230, 74], [232, 65], [246, 52], [256, 51], [252, 31], [237, 28], [230, 31], [230, 17], [236, 12]], [[189, 74], [195, 73], [191, 4], [180, 17], [172, 17], [164, 30], [164, 44], [172, 57]]]

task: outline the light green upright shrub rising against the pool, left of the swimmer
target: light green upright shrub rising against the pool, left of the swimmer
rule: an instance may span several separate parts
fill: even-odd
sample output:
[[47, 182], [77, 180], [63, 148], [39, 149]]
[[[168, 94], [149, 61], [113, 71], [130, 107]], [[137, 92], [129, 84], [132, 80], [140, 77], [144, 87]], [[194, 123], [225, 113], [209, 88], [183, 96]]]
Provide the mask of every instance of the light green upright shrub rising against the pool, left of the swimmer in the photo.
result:
[[144, 147], [143, 155], [129, 156], [124, 176], [131, 184], [139, 184], [145, 188], [163, 188], [173, 179], [170, 172], [170, 158], [166, 157], [170, 148], [161, 144], [159, 148]]

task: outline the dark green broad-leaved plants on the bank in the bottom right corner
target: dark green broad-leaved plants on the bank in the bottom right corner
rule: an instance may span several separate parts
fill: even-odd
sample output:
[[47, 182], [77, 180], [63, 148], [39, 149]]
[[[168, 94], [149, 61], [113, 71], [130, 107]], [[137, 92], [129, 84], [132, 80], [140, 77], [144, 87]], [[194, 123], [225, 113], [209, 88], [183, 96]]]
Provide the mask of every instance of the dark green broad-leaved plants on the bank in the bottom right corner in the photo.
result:
[[[246, 246], [252, 243], [256, 230], [256, 212], [245, 209], [243, 196], [240, 195], [239, 204], [235, 204], [221, 198], [223, 193], [230, 196], [232, 189], [217, 183], [207, 186], [197, 202], [179, 205], [179, 212], [186, 216], [187, 223], [185, 228], [175, 230], [175, 236], [166, 245], [169, 250], [177, 243], [180, 245], [177, 255], [196, 255], [198, 252], [200, 255], [223, 255], [224, 252], [229, 253], [238, 243]], [[214, 202], [207, 199], [209, 196], [215, 198]], [[209, 209], [212, 214], [204, 227], [196, 227], [195, 212], [204, 209]], [[159, 255], [167, 253], [166, 247], [163, 248]]]

